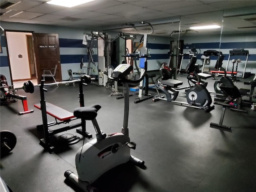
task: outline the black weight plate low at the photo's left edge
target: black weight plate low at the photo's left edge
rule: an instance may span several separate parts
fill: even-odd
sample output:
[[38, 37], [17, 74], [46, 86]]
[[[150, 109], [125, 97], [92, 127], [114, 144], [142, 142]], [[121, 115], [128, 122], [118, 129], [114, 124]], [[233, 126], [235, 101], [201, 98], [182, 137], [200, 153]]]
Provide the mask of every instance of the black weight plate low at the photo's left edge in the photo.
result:
[[[16, 136], [7, 130], [0, 132], [0, 139], [1, 139], [1, 155], [6, 155], [13, 150], [16, 146], [17, 138]], [[7, 147], [7, 146], [9, 147]]]

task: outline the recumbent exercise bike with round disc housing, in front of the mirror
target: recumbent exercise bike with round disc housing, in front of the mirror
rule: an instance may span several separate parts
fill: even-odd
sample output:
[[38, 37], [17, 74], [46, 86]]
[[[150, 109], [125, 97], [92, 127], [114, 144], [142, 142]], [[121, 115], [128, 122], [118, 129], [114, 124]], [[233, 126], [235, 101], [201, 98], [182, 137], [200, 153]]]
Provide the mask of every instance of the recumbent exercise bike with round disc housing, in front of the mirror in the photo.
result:
[[[187, 74], [193, 73], [196, 76], [197, 83], [194, 86], [190, 88], [179, 88], [178, 86], [183, 84], [182, 81], [174, 79], [164, 79], [163, 77], [162, 81], [158, 80], [155, 84], [158, 95], [154, 97], [153, 101], [156, 102], [158, 100], [166, 100], [174, 102], [175, 104], [204, 109], [205, 112], [210, 112], [211, 110], [213, 110], [214, 106], [211, 106], [212, 98], [210, 96], [210, 93], [208, 92], [206, 87], [200, 83], [201, 78], [195, 71], [196, 60], [196, 56], [193, 56], [186, 67]], [[164, 71], [165, 69], [162, 68], [162, 70]], [[186, 88], [189, 88], [186, 91], [187, 102], [176, 101], [179, 90]], [[164, 95], [161, 95], [159, 90], [161, 90]]]

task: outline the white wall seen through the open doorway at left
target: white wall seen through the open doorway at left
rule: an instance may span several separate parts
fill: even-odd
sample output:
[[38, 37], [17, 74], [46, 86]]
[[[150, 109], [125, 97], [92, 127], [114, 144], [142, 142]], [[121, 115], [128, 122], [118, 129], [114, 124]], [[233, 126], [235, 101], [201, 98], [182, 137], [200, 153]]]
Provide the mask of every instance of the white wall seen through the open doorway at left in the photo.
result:
[[[31, 78], [26, 35], [31, 35], [31, 33], [6, 32], [12, 80]], [[22, 55], [22, 58], [18, 55]]]

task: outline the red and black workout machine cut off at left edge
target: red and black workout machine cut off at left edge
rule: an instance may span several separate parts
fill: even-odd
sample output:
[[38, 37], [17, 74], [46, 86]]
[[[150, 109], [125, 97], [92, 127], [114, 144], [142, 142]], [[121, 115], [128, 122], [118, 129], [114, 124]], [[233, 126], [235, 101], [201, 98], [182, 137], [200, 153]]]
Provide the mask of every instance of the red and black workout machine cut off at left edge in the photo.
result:
[[[13, 88], [14, 86], [13, 85], [8, 86], [6, 77], [4, 75], [0, 75], [0, 79], [1, 79], [1, 97], [0, 97], [1, 104], [9, 104], [9, 103], [17, 102], [17, 99], [20, 99], [22, 101], [24, 111], [19, 112], [18, 115], [23, 115], [23, 114], [28, 114], [28, 113], [34, 112], [34, 110], [28, 109], [27, 97], [16, 94], [16, 90], [24, 89], [23, 87], [16, 88], [16, 89], [10, 89], [10, 88]], [[28, 82], [31, 82], [31, 81], [28, 81]], [[26, 83], [24, 83], [24, 84], [26, 84]], [[25, 90], [25, 92], [27, 92], [27, 91]], [[32, 92], [30, 92], [30, 93], [32, 93]]]

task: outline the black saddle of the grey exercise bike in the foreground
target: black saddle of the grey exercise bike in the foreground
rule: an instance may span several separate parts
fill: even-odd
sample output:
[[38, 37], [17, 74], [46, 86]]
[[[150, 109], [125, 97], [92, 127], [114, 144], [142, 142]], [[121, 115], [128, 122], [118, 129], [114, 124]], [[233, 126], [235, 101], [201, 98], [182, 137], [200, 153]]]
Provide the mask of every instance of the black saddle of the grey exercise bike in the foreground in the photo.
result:
[[96, 118], [97, 112], [100, 108], [101, 106], [98, 104], [88, 107], [78, 107], [74, 109], [74, 116], [80, 119], [93, 120]]

